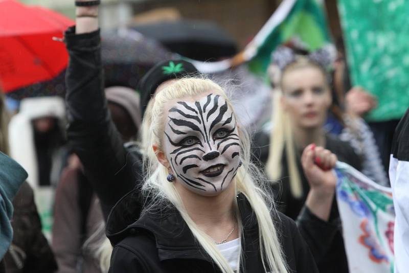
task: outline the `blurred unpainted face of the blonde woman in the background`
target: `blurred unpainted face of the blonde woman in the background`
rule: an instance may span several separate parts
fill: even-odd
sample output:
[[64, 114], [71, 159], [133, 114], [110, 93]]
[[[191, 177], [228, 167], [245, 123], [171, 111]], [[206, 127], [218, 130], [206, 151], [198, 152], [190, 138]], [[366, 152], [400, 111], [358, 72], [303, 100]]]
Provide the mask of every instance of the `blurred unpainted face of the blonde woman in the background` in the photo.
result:
[[282, 106], [292, 126], [323, 126], [332, 97], [324, 72], [313, 65], [289, 67], [281, 79]]

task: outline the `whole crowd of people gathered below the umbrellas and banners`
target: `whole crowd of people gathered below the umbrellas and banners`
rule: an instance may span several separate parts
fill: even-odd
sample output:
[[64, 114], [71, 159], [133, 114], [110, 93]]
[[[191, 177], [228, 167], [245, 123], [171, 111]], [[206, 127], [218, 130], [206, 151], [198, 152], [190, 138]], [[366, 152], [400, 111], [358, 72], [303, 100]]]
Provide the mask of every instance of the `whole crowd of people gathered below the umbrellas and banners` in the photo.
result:
[[[329, 73], [276, 50], [253, 132], [186, 60], [153, 66], [139, 93], [105, 87], [98, 2], [76, 1], [65, 32], [65, 102], [24, 99], [8, 122], [0, 93], [0, 272], [348, 272], [333, 168], [390, 184], [362, 119], [376, 100], [342, 58]], [[49, 239], [32, 187], [52, 200]]]

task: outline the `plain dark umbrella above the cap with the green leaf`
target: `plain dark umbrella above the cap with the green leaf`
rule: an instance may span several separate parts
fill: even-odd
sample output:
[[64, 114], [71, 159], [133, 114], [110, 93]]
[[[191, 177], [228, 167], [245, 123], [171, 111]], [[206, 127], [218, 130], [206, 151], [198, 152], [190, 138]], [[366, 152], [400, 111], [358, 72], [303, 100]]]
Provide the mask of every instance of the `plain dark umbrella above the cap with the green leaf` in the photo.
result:
[[195, 60], [217, 60], [237, 53], [230, 34], [210, 21], [161, 21], [131, 28], [161, 42], [170, 51]]

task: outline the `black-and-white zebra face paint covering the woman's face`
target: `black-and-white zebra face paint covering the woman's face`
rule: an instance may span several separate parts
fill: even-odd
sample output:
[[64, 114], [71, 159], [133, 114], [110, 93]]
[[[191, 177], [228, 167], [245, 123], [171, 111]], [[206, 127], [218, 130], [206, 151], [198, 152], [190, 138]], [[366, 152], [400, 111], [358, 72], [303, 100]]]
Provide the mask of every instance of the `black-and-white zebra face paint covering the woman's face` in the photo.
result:
[[169, 109], [164, 147], [177, 181], [201, 195], [219, 194], [229, 187], [240, 163], [232, 109], [213, 94], [176, 102]]

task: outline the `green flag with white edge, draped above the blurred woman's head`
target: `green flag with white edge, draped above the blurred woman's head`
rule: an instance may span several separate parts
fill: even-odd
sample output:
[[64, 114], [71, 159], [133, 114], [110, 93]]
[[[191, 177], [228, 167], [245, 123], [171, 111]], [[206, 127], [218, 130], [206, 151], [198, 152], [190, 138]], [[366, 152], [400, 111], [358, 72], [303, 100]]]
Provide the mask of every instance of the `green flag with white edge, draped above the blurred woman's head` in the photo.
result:
[[278, 45], [295, 38], [307, 50], [330, 42], [326, 16], [319, 0], [284, 0], [254, 39], [236, 57], [219, 62], [189, 60], [202, 73], [215, 73], [247, 62], [252, 72], [264, 75], [271, 53]]

